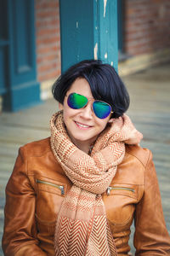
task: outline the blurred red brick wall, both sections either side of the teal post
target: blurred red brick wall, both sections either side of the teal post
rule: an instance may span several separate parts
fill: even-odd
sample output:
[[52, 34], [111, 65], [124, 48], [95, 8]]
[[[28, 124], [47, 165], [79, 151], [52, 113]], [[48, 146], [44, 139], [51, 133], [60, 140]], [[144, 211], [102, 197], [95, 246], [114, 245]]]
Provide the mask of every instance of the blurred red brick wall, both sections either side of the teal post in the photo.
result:
[[[170, 0], [122, 1], [125, 53], [135, 56], [170, 48]], [[37, 79], [44, 82], [60, 74], [59, 0], [35, 0], [35, 5]]]

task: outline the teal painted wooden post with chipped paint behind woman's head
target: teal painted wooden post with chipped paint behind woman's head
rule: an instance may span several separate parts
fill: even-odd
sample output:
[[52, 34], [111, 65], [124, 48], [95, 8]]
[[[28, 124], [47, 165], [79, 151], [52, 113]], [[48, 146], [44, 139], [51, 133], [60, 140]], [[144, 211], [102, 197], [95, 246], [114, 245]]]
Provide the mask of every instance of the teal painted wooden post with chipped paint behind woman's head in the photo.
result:
[[117, 0], [60, 0], [61, 72], [85, 59], [117, 70]]

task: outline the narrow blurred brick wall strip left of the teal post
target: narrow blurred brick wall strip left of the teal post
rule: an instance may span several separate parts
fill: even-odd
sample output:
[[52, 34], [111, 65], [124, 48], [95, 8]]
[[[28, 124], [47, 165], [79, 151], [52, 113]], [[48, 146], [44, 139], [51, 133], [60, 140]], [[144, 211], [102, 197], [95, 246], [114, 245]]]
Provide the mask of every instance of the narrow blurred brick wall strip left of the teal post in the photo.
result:
[[60, 74], [59, 0], [36, 0], [37, 79]]

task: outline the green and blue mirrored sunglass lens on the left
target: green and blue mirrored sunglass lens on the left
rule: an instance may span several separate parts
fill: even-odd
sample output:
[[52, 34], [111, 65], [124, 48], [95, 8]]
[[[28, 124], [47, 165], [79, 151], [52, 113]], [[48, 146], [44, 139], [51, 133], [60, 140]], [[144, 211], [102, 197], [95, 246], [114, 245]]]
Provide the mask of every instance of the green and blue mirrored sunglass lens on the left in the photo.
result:
[[67, 99], [68, 106], [73, 109], [83, 108], [87, 103], [88, 103], [87, 97], [77, 93], [71, 93]]

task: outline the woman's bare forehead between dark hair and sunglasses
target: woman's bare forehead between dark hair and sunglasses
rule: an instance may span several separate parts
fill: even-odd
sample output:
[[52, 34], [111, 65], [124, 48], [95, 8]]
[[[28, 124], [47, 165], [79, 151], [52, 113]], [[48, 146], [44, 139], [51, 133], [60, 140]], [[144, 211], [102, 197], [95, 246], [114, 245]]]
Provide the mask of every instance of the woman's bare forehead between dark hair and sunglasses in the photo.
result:
[[90, 89], [90, 85], [86, 79], [76, 79], [72, 84], [70, 89], [67, 91], [67, 94], [72, 92], [76, 92], [78, 94], [82, 94], [83, 96], [87, 96], [88, 98], [94, 98], [92, 95], [92, 91]]

